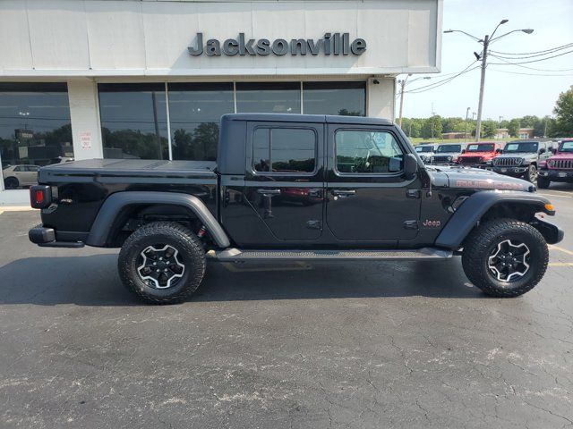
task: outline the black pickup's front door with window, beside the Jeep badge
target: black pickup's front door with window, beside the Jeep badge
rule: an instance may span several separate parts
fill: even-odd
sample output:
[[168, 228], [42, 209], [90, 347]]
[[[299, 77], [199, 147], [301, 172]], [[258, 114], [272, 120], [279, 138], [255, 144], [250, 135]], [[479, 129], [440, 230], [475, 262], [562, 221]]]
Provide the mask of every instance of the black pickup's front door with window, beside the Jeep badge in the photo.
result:
[[414, 240], [421, 181], [403, 174], [406, 145], [391, 128], [329, 125], [326, 223], [342, 241]]

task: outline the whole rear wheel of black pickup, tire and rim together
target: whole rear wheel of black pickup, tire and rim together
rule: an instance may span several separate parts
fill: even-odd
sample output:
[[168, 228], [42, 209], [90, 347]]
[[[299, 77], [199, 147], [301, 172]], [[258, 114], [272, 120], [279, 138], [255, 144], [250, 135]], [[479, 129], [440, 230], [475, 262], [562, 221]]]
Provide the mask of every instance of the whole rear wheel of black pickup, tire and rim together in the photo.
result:
[[192, 231], [179, 223], [141, 226], [119, 252], [117, 267], [124, 286], [149, 304], [175, 304], [199, 289], [205, 250]]

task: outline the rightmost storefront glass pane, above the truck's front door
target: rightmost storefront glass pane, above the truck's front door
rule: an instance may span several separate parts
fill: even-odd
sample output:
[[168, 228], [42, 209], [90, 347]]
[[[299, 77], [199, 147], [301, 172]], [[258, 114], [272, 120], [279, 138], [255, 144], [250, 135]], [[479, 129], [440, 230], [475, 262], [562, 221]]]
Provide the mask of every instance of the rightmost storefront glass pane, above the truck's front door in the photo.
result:
[[364, 82], [304, 82], [304, 114], [365, 116]]

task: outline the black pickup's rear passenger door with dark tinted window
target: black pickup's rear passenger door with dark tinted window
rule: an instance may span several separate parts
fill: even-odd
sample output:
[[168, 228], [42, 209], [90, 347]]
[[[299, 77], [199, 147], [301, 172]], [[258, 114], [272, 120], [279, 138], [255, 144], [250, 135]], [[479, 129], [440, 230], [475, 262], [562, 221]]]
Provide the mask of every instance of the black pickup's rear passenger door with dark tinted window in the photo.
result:
[[244, 195], [277, 240], [322, 233], [324, 124], [250, 122]]

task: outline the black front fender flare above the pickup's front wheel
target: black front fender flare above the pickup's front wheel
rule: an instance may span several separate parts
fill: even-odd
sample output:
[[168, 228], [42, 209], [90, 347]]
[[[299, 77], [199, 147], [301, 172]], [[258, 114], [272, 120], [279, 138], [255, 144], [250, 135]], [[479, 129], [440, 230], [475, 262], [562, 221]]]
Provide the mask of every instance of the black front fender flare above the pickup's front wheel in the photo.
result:
[[458, 210], [449, 218], [446, 226], [441, 230], [436, 239], [436, 246], [440, 248], [459, 248], [466, 239], [467, 234], [475, 226], [480, 218], [492, 206], [496, 204], [518, 203], [535, 207], [536, 212], [543, 212], [553, 215], [554, 211], [545, 208], [550, 204], [549, 199], [541, 195], [528, 192], [510, 192], [510, 191], [491, 191], [482, 190], [475, 192], [470, 198], [459, 206]]

